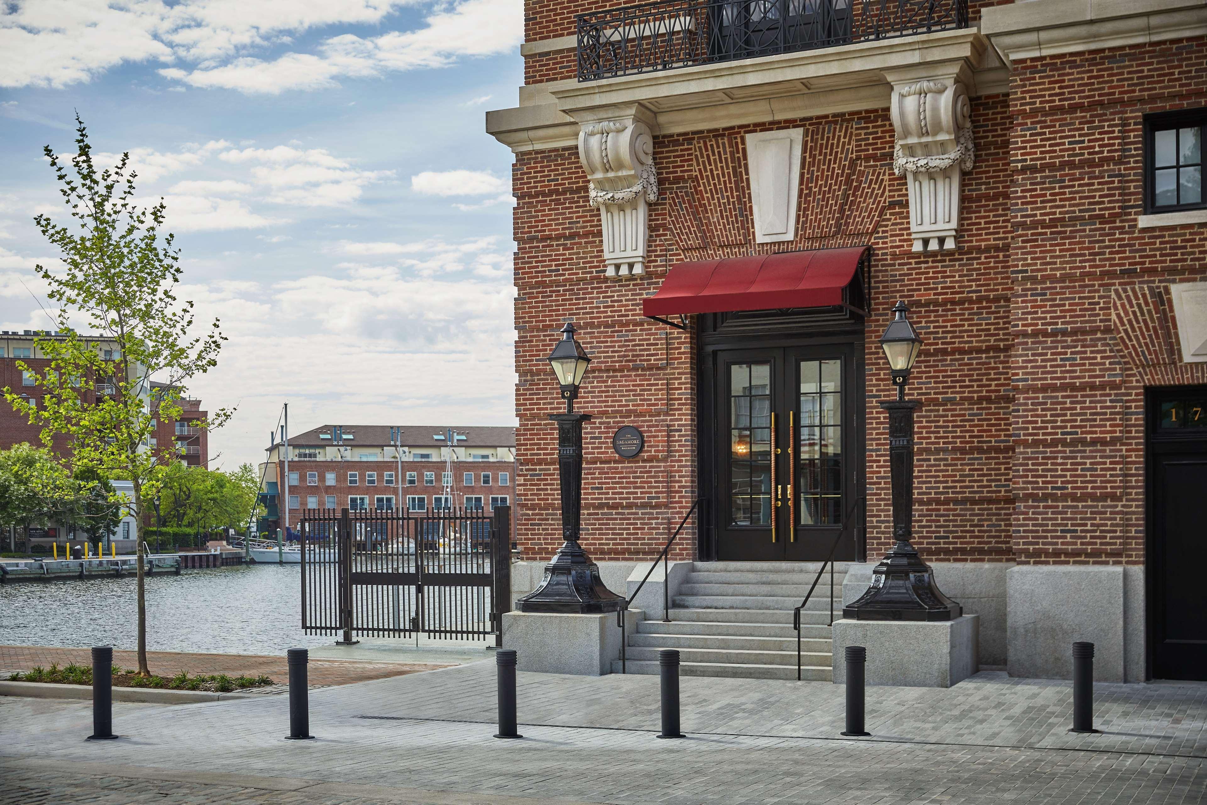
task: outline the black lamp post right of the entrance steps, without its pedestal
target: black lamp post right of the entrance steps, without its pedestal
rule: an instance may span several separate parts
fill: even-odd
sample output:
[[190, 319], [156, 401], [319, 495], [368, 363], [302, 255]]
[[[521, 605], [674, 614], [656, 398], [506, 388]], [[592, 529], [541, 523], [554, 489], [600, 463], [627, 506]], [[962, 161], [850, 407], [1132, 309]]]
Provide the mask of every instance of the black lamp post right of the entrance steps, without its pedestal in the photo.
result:
[[963, 614], [958, 603], [939, 591], [931, 566], [910, 544], [914, 536], [914, 410], [921, 403], [905, 399], [910, 369], [922, 349], [904, 302], [893, 307], [896, 319], [880, 338], [888, 358], [897, 399], [880, 403], [888, 412], [888, 469], [893, 490], [893, 549], [876, 565], [868, 591], [842, 607], [855, 620], [952, 620]]

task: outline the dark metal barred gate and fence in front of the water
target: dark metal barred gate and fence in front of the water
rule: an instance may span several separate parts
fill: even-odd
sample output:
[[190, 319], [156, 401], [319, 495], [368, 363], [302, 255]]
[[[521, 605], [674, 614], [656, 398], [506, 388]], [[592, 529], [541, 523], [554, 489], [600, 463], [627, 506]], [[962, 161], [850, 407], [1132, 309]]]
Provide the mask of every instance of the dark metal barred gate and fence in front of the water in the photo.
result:
[[[308, 512], [314, 512], [308, 509]], [[302, 630], [374, 637], [495, 636], [511, 611], [511, 507], [317, 509], [298, 520]]]

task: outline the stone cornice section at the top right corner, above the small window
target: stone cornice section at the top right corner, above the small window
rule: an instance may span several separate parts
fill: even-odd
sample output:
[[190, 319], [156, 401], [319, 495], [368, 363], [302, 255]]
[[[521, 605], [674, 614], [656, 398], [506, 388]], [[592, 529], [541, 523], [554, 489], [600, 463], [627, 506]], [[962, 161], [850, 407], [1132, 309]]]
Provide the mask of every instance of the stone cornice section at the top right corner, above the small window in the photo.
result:
[[1207, 35], [1207, 0], [1030, 0], [981, 10], [981, 33], [1016, 59]]

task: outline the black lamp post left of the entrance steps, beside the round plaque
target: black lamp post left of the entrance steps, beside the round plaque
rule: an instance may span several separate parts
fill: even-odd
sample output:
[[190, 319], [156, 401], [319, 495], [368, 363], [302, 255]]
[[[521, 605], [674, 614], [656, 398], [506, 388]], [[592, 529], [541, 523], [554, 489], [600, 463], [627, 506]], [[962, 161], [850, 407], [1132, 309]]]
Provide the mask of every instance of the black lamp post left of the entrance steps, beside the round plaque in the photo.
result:
[[549, 363], [558, 375], [565, 414], [550, 414], [558, 424], [558, 473], [561, 479], [562, 546], [544, 566], [544, 578], [535, 590], [515, 602], [520, 612], [600, 614], [625, 607], [625, 600], [607, 589], [600, 567], [578, 544], [583, 500], [583, 422], [589, 414], [575, 413], [575, 398], [591, 358], [575, 340], [575, 326], [561, 328], [562, 338], [553, 348]]

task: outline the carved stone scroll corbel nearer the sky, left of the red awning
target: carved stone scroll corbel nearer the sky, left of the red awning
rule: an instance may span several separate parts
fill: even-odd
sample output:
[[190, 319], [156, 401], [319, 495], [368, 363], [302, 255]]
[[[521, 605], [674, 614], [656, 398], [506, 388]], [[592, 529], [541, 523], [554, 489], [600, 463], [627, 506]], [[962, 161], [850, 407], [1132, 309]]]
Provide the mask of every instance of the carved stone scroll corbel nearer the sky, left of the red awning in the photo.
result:
[[[640, 111], [640, 110], [639, 110]], [[600, 211], [607, 276], [646, 273], [649, 204], [658, 200], [654, 138], [643, 115], [581, 122], [578, 158]]]

